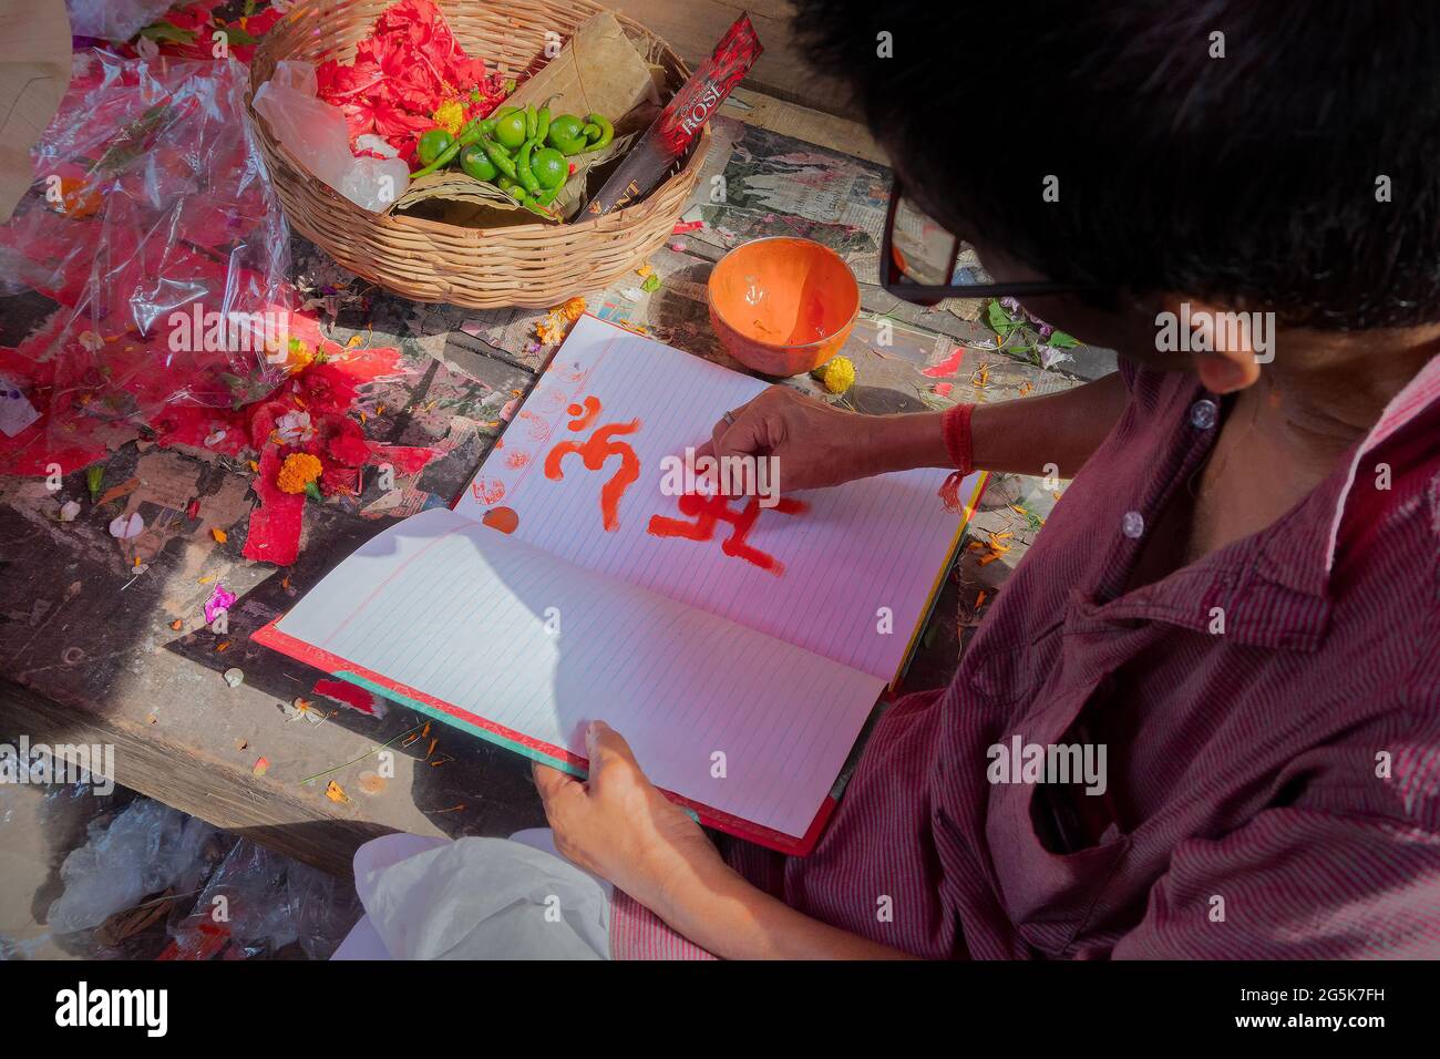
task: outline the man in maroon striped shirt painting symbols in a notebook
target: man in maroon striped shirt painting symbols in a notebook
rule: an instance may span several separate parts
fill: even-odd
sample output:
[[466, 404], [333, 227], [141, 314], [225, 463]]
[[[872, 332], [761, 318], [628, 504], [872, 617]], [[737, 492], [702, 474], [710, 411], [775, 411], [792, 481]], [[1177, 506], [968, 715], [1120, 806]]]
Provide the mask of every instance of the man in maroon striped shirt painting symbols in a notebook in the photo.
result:
[[[616, 888], [611, 948], [1440, 955], [1440, 12], [802, 0], [796, 24], [991, 292], [1122, 369], [943, 415], [773, 389], [714, 426], [788, 490], [1074, 481], [809, 857], [721, 856], [599, 722], [588, 782], [536, 768], [559, 853]], [[1032, 748], [1099, 782], [999, 767]]]

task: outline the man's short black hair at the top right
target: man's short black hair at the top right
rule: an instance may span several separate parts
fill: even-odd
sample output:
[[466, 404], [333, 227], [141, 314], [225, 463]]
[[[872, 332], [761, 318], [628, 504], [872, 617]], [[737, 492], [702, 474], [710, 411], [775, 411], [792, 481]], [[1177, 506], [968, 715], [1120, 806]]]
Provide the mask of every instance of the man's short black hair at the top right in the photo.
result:
[[1289, 326], [1440, 320], [1433, 0], [796, 9], [936, 220], [1053, 280]]

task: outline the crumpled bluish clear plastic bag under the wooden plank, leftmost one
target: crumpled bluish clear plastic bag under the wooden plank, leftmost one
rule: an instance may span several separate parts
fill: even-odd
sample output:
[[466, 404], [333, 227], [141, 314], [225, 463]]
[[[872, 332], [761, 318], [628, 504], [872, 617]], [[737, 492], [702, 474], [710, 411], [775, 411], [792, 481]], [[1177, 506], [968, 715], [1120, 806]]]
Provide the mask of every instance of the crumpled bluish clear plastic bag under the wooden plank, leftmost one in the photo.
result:
[[91, 821], [85, 844], [60, 864], [65, 892], [50, 905], [50, 929], [89, 929], [150, 893], [194, 889], [212, 834], [203, 820], [150, 798], [130, 803], [108, 826]]

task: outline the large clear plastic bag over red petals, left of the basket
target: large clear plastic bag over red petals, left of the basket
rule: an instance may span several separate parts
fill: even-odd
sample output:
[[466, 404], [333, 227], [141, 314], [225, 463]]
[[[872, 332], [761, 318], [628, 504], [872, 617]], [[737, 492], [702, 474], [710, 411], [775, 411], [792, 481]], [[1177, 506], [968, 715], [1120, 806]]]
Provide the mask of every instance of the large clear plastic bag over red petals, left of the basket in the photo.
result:
[[40, 412], [0, 437], [0, 473], [69, 473], [141, 425], [202, 445], [210, 409], [285, 379], [289, 229], [245, 120], [246, 68], [73, 62], [36, 183], [0, 225], [0, 294], [58, 304], [12, 317], [33, 330], [0, 346], [0, 375]]

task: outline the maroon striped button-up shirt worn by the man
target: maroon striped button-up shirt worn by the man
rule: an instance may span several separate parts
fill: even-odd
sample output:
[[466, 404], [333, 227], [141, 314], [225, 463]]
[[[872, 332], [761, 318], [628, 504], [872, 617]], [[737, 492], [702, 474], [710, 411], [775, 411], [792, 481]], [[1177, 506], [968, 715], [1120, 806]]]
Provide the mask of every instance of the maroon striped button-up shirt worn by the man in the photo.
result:
[[[1440, 957], [1440, 357], [1279, 522], [1133, 591], [1224, 412], [1122, 370], [953, 683], [881, 719], [809, 857], [732, 862], [923, 957]], [[1110, 797], [989, 782], [1017, 736], [1103, 742]], [[619, 893], [612, 948], [704, 955]]]

